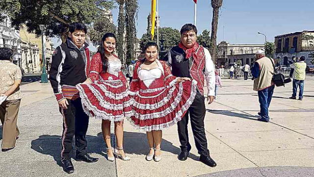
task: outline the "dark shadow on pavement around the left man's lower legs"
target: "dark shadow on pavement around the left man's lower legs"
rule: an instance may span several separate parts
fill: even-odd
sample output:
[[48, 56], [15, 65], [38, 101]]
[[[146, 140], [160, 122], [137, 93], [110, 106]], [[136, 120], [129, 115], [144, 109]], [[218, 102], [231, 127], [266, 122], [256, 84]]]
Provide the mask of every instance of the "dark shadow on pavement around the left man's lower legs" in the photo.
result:
[[[102, 137], [86, 136], [87, 153], [97, 153], [105, 156], [105, 143]], [[73, 140], [73, 144], [74, 144]], [[31, 148], [39, 153], [51, 155], [57, 165], [62, 167], [61, 163], [61, 136], [41, 135], [39, 138], [31, 141]], [[75, 157], [75, 147], [73, 146], [72, 157]]]

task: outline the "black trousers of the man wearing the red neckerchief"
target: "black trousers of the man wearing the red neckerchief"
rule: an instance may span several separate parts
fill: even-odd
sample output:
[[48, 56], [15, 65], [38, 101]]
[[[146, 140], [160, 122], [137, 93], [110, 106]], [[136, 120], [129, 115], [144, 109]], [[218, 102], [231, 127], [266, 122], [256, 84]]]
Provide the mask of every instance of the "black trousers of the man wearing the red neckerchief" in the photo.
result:
[[183, 116], [182, 120], [178, 122], [178, 133], [181, 143], [181, 150], [187, 149], [189, 151], [191, 149], [187, 132], [188, 117], [190, 116], [191, 127], [198, 153], [204, 156], [209, 156], [204, 128], [205, 114], [205, 97], [199, 91], [197, 91], [195, 99], [190, 108]]

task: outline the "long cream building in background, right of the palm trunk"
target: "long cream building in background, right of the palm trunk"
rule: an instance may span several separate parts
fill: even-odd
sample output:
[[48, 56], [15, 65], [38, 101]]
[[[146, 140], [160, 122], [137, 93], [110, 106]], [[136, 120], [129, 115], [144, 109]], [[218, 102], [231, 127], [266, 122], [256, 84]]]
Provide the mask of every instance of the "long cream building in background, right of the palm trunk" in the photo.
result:
[[230, 65], [237, 60], [241, 60], [242, 65], [251, 65], [258, 50], [264, 50], [264, 44], [229, 44], [222, 41], [218, 44], [216, 65]]

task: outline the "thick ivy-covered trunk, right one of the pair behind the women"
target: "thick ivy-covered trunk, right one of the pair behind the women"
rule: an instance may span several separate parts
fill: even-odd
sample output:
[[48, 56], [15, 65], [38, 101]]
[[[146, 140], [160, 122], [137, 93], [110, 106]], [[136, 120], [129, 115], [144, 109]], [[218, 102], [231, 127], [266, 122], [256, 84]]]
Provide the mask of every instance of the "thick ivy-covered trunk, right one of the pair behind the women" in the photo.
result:
[[137, 12], [137, 0], [127, 0], [125, 5], [126, 10], [126, 41], [127, 41], [127, 59], [126, 62], [131, 62], [134, 59], [136, 43], [136, 27], [135, 14]]

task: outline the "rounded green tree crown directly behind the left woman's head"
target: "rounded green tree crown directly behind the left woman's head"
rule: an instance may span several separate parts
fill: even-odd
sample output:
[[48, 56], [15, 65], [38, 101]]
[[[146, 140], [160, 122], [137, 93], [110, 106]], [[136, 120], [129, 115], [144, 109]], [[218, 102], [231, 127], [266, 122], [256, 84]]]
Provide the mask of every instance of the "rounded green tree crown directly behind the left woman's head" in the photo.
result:
[[116, 34], [116, 31], [117, 31], [116, 26], [113, 23], [111, 23], [108, 18], [102, 17], [98, 18], [98, 20], [94, 23], [93, 27], [89, 29], [88, 35], [94, 46], [97, 46], [101, 44], [103, 35], [105, 33], [111, 32]]

